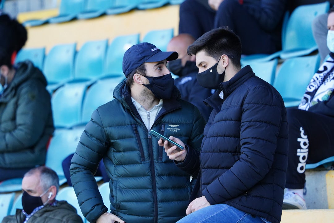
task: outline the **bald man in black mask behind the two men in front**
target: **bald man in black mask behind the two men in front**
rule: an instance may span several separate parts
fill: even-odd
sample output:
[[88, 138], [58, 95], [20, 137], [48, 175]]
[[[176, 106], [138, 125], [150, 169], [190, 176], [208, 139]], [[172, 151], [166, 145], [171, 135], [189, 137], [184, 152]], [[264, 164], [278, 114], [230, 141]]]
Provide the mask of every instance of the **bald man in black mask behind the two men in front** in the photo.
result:
[[175, 79], [174, 85], [179, 89], [181, 98], [195, 105], [205, 121], [208, 121], [212, 108], [204, 104], [204, 100], [212, 95], [211, 90], [200, 86], [196, 79], [198, 68], [196, 56], [190, 56], [187, 48], [195, 39], [187, 33], [173, 37], [167, 45], [167, 51], [176, 51], [179, 54], [177, 60], [169, 61], [167, 68], [180, 78]]

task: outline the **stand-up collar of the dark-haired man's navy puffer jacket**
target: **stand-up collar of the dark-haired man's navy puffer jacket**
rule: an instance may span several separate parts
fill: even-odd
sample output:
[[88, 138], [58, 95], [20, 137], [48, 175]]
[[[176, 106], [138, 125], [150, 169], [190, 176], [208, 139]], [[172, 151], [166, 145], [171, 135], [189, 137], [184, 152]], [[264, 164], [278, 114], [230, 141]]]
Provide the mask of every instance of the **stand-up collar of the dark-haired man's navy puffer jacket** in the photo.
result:
[[255, 76], [252, 68], [247, 65], [238, 71], [229, 81], [220, 83], [220, 88], [223, 92], [223, 99], [219, 97], [220, 90], [217, 90], [213, 95], [204, 100], [205, 104], [210, 105], [216, 110], [220, 111], [220, 106], [224, 100], [238, 87], [240, 87], [246, 80]]

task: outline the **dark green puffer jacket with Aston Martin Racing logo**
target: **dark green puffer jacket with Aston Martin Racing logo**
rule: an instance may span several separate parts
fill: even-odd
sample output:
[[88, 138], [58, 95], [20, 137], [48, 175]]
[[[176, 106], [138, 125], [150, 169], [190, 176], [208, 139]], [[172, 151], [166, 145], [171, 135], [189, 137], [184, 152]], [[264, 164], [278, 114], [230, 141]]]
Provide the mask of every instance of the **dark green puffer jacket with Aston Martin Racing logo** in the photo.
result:
[[[125, 82], [116, 87], [114, 98], [94, 111], [71, 161], [71, 182], [81, 211], [92, 223], [107, 212], [93, 177], [103, 158], [111, 179], [113, 214], [127, 223], [174, 223], [185, 216], [190, 175], [148, 134]], [[180, 100], [176, 87], [172, 98], [164, 100], [152, 129], [199, 151], [203, 117], [195, 106]]]

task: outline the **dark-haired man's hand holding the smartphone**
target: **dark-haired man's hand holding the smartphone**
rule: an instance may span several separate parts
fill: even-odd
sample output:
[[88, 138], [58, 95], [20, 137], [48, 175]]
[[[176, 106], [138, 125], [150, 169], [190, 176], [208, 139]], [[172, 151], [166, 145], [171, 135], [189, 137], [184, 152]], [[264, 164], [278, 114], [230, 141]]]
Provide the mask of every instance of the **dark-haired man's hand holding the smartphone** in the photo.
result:
[[167, 140], [165, 140], [165, 142], [163, 143], [162, 139], [159, 139], [158, 144], [165, 148], [165, 152], [167, 153], [168, 157], [171, 160], [182, 162], [187, 155], [187, 150], [184, 146], [184, 143], [180, 139], [175, 138], [173, 136], [169, 136], [169, 139], [176, 142], [177, 144], [183, 146], [184, 149], [179, 151], [179, 149], [177, 148], [176, 145], [168, 144]]

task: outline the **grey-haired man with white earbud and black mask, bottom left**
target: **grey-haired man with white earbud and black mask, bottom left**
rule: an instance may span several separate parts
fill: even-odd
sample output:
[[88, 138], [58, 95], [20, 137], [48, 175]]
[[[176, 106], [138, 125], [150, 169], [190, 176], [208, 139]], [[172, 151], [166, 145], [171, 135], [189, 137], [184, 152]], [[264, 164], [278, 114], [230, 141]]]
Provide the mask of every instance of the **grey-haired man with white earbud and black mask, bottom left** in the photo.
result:
[[53, 170], [39, 166], [28, 171], [22, 180], [22, 207], [2, 223], [82, 223], [76, 209], [66, 201], [57, 201], [59, 178]]

